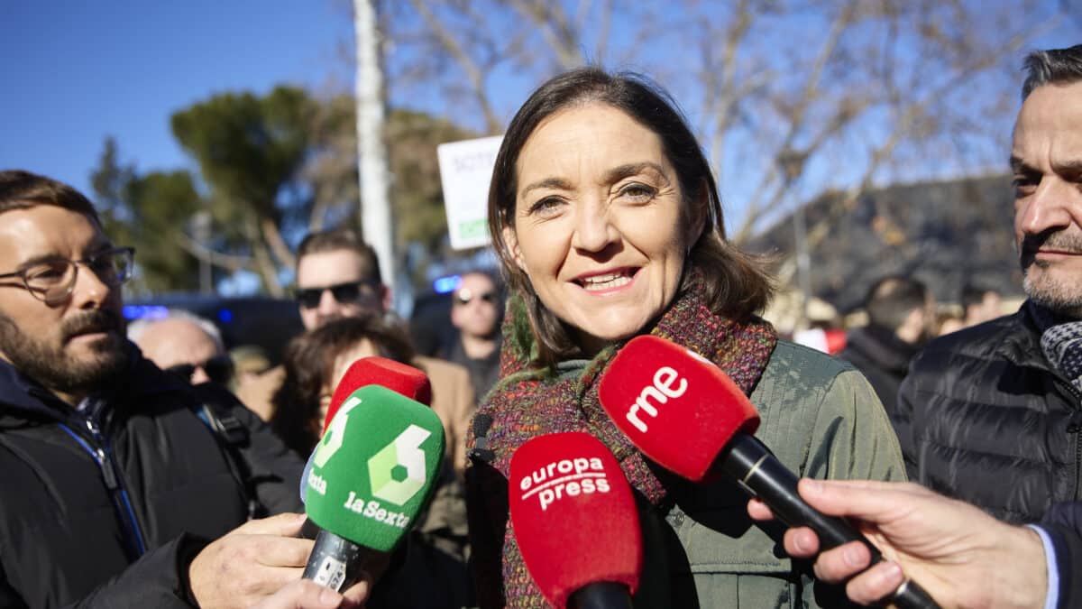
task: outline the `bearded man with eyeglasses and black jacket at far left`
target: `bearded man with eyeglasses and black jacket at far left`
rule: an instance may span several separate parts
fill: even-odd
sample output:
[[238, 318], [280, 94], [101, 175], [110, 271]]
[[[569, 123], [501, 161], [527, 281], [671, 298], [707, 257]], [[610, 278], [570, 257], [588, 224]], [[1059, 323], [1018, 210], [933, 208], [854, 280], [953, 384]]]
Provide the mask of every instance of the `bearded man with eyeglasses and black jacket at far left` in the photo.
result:
[[246, 489], [206, 394], [126, 340], [132, 256], [75, 189], [0, 171], [0, 607], [250, 606], [311, 552], [303, 515], [243, 523], [249, 491], [300, 507], [302, 464], [234, 402], [275, 474]]

